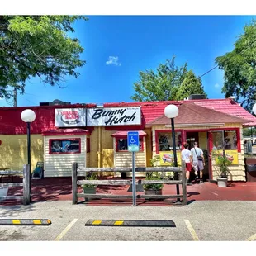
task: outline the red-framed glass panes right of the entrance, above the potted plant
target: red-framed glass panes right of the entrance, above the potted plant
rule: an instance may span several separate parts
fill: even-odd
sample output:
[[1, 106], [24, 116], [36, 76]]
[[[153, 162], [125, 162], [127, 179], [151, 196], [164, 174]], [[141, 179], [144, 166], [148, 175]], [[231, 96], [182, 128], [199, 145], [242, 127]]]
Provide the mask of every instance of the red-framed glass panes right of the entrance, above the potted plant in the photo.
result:
[[[223, 149], [223, 132], [212, 132], [213, 150]], [[235, 130], [224, 131], [225, 149], [237, 149], [237, 135]]]

